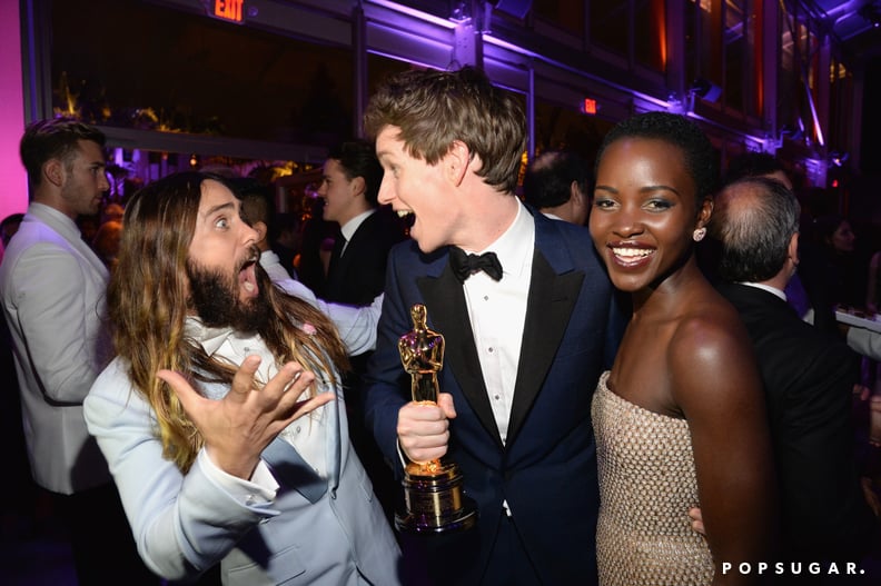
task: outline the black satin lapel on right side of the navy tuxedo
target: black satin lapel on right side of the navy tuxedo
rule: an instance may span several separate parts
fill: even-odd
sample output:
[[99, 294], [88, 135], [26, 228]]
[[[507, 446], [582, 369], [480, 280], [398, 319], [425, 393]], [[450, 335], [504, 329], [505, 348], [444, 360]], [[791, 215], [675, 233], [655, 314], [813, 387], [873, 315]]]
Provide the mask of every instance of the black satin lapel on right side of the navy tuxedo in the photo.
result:
[[542, 389], [578, 299], [583, 280], [582, 271], [557, 275], [541, 250], [535, 250], [517, 383], [514, 386], [514, 401], [508, 420], [508, 446], [516, 439]]

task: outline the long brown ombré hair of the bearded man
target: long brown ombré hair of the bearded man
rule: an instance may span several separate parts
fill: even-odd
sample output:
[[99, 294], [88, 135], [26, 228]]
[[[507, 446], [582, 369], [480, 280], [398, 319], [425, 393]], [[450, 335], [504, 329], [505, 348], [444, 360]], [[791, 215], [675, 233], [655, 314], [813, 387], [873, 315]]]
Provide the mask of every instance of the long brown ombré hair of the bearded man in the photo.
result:
[[[236, 368], [208, 356], [185, 336], [188, 279], [186, 262], [206, 179], [180, 172], [149, 183], [126, 207], [119, 262], [108, 288], [108, 310], [117, 354], [128, 360], [137, 393], [156, 411], [164, 456], [186, 471], [202, 438], [175, 391], [156, 373], [170, 369], [191, 381], [231, 384]], [[299, 298], [273, 286], [257, 267], [270, 319], [258, 331], [281, 365], [296, 360], [318, 378], [337, 381], [335, 368], [348, 368], [345, 347], [333, 322]], [[311, 327], [303, 327], [304, 325]], [[315, 393], [313, 388], [310, 393]]]

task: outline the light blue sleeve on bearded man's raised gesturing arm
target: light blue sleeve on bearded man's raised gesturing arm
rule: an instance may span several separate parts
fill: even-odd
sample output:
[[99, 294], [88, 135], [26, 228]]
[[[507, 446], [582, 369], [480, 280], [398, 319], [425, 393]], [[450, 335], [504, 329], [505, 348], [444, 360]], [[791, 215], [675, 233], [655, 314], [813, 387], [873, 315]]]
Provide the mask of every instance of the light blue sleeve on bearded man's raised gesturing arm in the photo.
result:
[[261, 519], [278, 515], [265, 501], [239, 503], [200, 459], [184, 475], [162, 457], [152, 410], [131, 389], [119, 360], [96, 381], [85, 415], [113, 474], [138, 553], [159, 576], [198, 576]]

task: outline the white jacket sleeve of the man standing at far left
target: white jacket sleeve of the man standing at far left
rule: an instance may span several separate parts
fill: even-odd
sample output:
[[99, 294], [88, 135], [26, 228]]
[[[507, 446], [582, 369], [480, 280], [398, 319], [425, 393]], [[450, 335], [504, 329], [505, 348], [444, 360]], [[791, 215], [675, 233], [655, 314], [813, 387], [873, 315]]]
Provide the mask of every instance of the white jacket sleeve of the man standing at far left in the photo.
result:
[[[101, 307], [83, 299], [83, 268], [58, 245], [40, 242], [22, 252], [11, 272], [17, 324], [47, 399], [61, 405], [80, 405], [100, 373], [105, 356], [99, 340], [89, 336], [87, 321]], [[103, 319], [99, 315], [98, 319]]]

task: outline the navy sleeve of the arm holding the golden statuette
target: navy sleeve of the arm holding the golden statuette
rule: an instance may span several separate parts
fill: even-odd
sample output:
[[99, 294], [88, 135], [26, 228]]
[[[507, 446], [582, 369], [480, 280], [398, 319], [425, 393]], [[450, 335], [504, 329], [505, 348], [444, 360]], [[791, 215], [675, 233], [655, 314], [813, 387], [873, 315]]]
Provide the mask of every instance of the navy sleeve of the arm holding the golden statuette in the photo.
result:
[[[398, 248], [396, 250], [402, 250]], [[413, 329], [409, 306], [400, 288], [396, 262], [399, 255], [393, 250], [388, 259], [385, 299], [377, 328], [376, 351], [370, 357], [364, 377], [365, 418], [386, 461], [397, 475], [403, 474], [397, 451], [398, 410], [409, 403], [409, 377], [404, 371], [398, 352], [398, 338]]]

